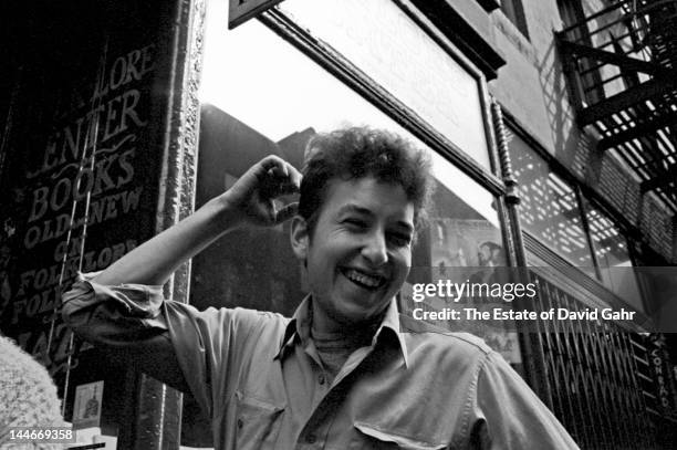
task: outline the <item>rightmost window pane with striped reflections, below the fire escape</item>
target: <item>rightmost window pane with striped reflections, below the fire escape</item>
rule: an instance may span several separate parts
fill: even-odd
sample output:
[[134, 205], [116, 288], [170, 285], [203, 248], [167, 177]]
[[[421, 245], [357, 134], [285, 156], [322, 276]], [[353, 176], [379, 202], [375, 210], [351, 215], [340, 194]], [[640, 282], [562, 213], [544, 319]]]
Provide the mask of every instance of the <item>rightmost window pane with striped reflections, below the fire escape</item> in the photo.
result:
[[585, 202], [585, 211], [602, 282], [634, 307], [644, 311], [625, 236], [590, 202]]

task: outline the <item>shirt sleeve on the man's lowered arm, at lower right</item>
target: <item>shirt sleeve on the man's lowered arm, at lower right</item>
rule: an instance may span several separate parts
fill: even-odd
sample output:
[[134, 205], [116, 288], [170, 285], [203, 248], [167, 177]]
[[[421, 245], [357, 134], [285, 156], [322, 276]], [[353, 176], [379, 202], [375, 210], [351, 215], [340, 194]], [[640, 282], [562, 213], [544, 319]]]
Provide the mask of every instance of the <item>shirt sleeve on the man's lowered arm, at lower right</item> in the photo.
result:
[[482, 365], [473, 405], [473, 440], [481, 449], [579, 449], [527, 383], [496, 352]]

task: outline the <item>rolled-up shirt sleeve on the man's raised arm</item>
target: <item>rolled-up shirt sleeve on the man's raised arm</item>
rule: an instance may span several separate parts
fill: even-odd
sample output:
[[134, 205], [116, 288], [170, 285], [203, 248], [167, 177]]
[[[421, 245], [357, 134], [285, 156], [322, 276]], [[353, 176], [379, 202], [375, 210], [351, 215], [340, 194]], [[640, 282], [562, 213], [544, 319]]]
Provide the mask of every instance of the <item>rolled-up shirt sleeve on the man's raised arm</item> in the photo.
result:
[[218, 416], [248, 358], [252, 331], [267, 315], [243, 308], [198, 311], [165, 300], [162, 286], [105, 286], [94, 276], [81, 275], [63, 295], [66, 324], [85, 341], [125, 352], [140, 370], [190, 391], [209, 417]]

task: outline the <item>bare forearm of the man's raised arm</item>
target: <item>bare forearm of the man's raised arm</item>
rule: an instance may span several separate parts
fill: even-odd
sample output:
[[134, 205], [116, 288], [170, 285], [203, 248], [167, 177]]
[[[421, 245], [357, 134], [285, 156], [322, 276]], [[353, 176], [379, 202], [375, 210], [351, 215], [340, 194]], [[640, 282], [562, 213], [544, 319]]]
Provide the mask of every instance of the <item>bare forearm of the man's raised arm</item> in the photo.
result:
[[217, 197], [174, 227], [117, 260], [94, 281], [100, 284], [164, 284], [185, 261], [236, 228], [225, 196]]

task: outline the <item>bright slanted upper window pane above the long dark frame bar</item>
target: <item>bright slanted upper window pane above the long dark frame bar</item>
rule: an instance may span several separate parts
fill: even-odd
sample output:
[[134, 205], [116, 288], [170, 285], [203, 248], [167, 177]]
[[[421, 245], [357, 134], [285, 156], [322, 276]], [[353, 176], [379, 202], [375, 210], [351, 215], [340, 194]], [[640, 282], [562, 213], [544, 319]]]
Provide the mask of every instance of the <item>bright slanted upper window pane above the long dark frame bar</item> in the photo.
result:
[[389, 0], [279, 7], [490, 170], [478, 80]]

